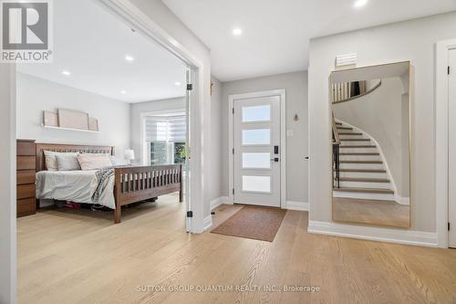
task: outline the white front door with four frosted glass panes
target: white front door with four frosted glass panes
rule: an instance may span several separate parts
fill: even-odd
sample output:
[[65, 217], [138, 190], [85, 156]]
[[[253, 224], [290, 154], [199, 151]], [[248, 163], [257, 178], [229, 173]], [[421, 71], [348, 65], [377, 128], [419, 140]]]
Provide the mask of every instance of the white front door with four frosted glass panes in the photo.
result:
[[233, 100], [235, 204], [280, 207], [280, 96]]

